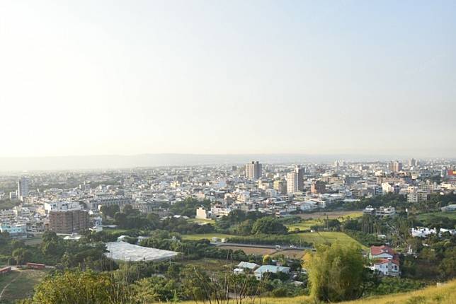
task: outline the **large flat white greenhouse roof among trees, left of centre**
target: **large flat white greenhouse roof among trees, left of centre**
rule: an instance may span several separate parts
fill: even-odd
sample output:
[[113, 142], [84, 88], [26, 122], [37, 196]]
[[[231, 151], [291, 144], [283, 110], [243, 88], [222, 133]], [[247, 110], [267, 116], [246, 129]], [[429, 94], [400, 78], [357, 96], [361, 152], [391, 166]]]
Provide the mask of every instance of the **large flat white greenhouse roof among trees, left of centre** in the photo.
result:
[[105, 252], [106, 257], [122, 261], [154, 261], [159, 262], [171, 257], [176, 257], [179, 252], [161, 250], [150, 247], [132, 245], [128, 242], [107, 242]]

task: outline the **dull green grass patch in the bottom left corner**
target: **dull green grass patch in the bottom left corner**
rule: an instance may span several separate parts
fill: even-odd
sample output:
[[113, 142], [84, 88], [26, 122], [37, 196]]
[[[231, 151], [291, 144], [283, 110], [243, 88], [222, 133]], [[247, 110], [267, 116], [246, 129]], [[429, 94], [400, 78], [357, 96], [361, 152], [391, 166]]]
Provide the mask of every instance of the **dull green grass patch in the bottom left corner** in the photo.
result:
[[0, 303], [10, 304], [33, 295], [33, 288], [40, 283], [47, 270], [16, 270], [0, 276]]

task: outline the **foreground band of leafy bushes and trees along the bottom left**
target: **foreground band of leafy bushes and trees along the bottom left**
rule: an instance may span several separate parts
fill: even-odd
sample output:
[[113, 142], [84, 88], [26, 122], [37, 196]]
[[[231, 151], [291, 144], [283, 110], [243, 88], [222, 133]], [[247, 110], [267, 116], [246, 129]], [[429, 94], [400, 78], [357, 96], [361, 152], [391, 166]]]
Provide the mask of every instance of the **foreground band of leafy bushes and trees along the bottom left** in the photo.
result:
[[[304, 288], [287, 280], [265, 276], [258, 281], [254, 276], [234, 275], [231, 269], [213, 272], [191, 264], [144, 262], [122, 264], [120, 269], [109, 272], [56, 271], [36, 286], [33, 298], [22, 303], [140, 304], [179, 300], [240, 303], [247, 297], [253, 303], [255, 298], [266, 295], [304, 293]], [[229, 295], [235, 298], [229, 299]]]

